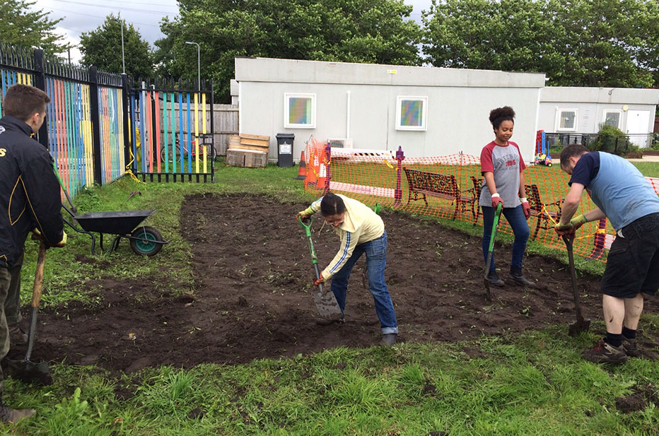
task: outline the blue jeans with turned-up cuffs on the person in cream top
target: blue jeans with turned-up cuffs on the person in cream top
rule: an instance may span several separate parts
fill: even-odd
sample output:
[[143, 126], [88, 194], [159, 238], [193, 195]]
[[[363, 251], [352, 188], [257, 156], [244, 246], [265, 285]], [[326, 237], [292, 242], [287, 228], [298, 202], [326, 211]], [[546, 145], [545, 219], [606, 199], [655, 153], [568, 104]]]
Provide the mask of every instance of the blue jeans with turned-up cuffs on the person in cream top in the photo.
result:
[[332, 276], [332, 293], [337, 297], [341, 311], [346, 307], [346, 291], [348, 290], [348, 278], [357, 259], [366, 253], [366, 268], [368, 269], [368, 288], [373, 294], [375, 302], [375, 313], [380, 319], [382, 334], [398, 333], [398, 324], [391, 295], [385, 283], [385, 266], [387, 266], [387, 232], [370, 242], [358, 244], [352, 256], [338, 273]]

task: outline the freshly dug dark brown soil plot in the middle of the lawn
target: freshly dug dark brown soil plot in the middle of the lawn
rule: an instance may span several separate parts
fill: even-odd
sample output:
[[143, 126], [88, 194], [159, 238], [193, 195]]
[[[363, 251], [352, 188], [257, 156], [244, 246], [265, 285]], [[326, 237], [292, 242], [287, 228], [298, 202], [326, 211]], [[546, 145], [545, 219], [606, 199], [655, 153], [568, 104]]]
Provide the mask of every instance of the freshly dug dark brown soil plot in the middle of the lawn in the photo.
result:
[[[71, 304], [40, 314], [33, 360], [96, 364], [119, 373], [378, 344], [380, 325], [373, 298], [363, 287], [362, 259], [350, 278], [345, 324], [315, 324], [313, 269], [295, 219], [305, 206], [264, 196], [188, 197], [181, 208], [180, 231], [194, 254], [197, 281], [192, 292], [170, 295], [156, 277], [107, 277], [98, 283], [98, 306]], [[559, 261], [527, 257], [525, 271], [538, 287], [506, 281], [505, 288], [492, 288], [490, 303], [483, 287], [479, 237], [402, 213], [381, 214], [389, 235], [386, 278], [399, 341], [462, 341], [554, 324], [567, 331], [574, 322], [570, 276]], [[339, 241], [327, 226], [321, 230], [321, 224], [320, 217], [314, 220], [313, 239], [325, 266]], [[511, 247], [497, 245], [496, 253], [505, 277]], [[124, 245], [112, 256], [130, 261], [134, 254]], [[580, 277], [579, 288], [585, 317], [599, 319], [599, 279]], [[648, 312], [657, 308], [653, 300], [646, 303]], [[467, 352], [482, 355], [477, 349]]]

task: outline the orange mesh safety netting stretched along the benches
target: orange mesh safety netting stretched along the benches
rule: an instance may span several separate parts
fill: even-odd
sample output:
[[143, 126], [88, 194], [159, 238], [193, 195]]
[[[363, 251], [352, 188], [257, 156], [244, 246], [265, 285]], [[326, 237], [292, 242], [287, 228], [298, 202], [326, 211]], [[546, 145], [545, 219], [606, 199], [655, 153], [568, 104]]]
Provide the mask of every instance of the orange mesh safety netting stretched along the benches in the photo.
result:
[[[482, 175], [477, 156], [458, 153], [406, 158], [400, 148], [397, 152], [328, 148], [327, 143], [312, 136], [307, 142], [305, 162], [305, 191], [317, 196], [331, 190], [371, 206], [380, 203], [409, 213], [483, 225], [478, 206]], [[559, 165], [528, 165], [523, 174], [531, 206], [529, 239], [564, 249], [554, 225], [560, 218], [561, 201], [569, 191], [569, 176]], [[659, 179], [648, 177], [648, 182], [659, 193]], [[593, 201], [584, 195], [579, 213], [593, 208]], [[501, 220], [503, 225], [498, 231], [512, 235], [503, 216]], [[604, 250], [611, 246], [614, 237], [607, 220], [585, 224], [577, 232], [574, 252], [606, 261]]]

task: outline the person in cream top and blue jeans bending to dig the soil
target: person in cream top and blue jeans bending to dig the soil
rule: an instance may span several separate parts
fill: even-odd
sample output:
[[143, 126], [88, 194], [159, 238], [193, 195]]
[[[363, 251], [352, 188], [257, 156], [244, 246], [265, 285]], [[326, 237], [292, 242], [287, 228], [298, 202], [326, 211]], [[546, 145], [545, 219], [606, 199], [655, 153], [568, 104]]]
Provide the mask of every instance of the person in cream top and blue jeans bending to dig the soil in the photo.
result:
[[[332, 293], [344, 312], [348, 278], [356, 261], [362, 254], [366, 254], [368, 288], [373, 294], [375, 313], [380, 319], [382, 341], [386, 346], [392, 346], [398, 336], [398, 324], [391, 295], [385, 283], [387, 232], [382, 218], [366, 204], [332, 192], [314, 201], [304, 211], [298, 212], [298, 218], [305, 219], [318, 211], [325, 218], [325, 222], [337, 232], [341, 244], [337, 255], [313, 284], [317, 286], [331, 278]], [[345, 319], [318, 319], [316, 323], [329, 325], [334, 322], [345, 322]]]

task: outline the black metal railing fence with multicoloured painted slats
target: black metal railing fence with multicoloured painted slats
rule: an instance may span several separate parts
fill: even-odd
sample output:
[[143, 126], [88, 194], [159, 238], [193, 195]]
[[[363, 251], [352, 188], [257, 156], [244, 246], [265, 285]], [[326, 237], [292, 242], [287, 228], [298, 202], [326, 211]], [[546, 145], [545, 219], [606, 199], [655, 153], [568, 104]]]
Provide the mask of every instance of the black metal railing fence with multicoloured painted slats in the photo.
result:
[[214, 180], [213, 81], [201, 87], [189, 81], [134, 86], [126, 75], [0, 43], [0, 113], [6, 90], [15, 83], [49, 95], [37, 140], [49, 149], [72, 196], [127, 172], [143, 181]]

